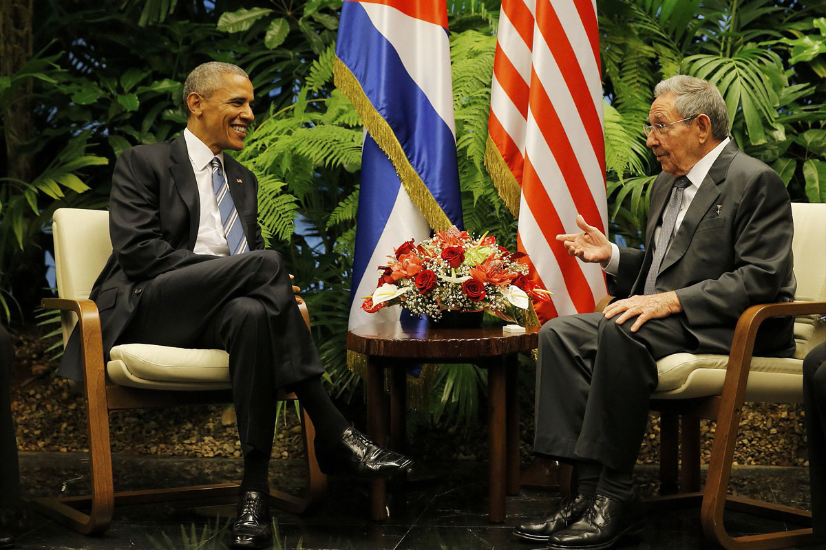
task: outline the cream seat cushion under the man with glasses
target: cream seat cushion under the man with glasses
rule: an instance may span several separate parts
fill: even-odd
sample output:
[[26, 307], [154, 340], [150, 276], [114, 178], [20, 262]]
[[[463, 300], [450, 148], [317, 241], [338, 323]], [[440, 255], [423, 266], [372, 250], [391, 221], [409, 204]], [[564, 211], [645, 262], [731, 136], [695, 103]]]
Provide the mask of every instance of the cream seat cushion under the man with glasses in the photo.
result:
[[[686, 399], [723, 391], [728, 355], [677, 353], [657, 361], [659, 383], [653, 399]], [[754, 357], [746, 388], [747, 401], [800, 402], [803, 361]]]

